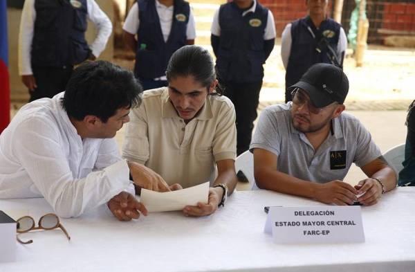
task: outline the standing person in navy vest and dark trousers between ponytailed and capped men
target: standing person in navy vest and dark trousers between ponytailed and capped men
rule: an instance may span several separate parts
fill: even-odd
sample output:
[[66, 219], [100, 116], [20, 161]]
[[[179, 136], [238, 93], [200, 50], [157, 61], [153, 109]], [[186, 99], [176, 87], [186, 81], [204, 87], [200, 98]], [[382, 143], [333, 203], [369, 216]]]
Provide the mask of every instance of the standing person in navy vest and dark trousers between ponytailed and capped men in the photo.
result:
[[217, 10], [211, 31], [219, 83], [237, 112], [239, 155], [249, 148], [257, 118], [262, 65], [275, 43], [274, 17], [257, 1], [234, 0]]

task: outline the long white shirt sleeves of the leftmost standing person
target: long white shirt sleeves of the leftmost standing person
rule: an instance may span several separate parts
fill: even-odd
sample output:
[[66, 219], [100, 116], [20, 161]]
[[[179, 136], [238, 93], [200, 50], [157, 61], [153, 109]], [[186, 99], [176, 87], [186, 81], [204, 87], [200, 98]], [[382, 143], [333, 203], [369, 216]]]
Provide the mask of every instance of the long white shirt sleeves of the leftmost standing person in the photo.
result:
[[[112, 24], [107, 15], [100, 9], [95, 0], [86, 0], [88, 19], [90, 19], [98, 33], [93, 43], [89, 46], [95, 57], [99, 57], [107, 45], [112, 32]], [[35, 27], [36, 10], [35, 0], [24, 1], [21, 10], [19, 32], [19, 75], [32, 75], [31, 55], [33, 31]]]

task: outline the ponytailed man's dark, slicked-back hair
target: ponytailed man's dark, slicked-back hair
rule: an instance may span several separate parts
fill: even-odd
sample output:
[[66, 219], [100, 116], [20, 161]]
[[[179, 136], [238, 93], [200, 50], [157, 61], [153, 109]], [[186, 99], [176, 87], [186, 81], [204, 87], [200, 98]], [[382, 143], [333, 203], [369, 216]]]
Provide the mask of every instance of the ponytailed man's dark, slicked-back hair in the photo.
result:
[[[208, 50], [201, 46], [188, 45], [173, 53], [167, 64], [167, 81], [177, 76], [188, 75], [192, 75], [196, 82], [209, 89], [212, 82], [216, 80], [216, 71]], [[219, 84], [216, 87], [216, 93], [221, 93]]]

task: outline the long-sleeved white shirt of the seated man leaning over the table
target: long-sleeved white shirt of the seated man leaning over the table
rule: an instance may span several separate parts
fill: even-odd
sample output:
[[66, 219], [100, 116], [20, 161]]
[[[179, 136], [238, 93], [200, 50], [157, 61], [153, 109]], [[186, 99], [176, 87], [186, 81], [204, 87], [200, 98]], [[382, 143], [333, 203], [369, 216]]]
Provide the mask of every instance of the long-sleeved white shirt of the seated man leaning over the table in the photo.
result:
[[82, 140], [63, 95], [25, 105], [0, 135], [0, 199], [44, 197], [60, 217], [77, 217], [131, 181], [116, 140]]

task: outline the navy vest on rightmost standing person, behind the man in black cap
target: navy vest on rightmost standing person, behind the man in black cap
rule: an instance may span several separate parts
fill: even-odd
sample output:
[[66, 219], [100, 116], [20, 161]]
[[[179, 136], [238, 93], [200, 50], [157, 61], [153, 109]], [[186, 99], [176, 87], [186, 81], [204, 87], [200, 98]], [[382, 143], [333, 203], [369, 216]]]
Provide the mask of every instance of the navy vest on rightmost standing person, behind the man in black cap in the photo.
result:
[[[308, 16], [293, 21], [291, 24], [293, 42], [286, 71], [286, 88], [297, 83], [313, 64], [319, 62], [331, 63], [331, 60], [327, 57], [329, 49], [327, 46], [318, 46], [318, 41], [324, 35], [331, 48], [337, 52], [340, 27], [340, 24], [333, 19], [322, 21], [319, 29], [315, 28], [313, 21]], [[310, 30], [313, 31], [316, 38], [313, 37]], [[320, 53], [316, 50], [317, 46], [320, 48]]]

